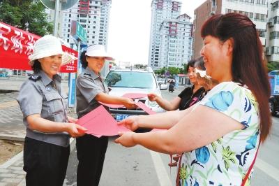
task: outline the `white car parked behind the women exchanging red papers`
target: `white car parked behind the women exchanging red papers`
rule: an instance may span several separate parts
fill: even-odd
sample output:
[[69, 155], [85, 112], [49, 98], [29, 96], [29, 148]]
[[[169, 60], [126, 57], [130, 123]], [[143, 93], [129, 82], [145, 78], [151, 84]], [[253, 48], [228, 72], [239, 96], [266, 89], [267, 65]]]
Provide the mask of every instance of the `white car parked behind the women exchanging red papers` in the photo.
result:
[[[149, 94], [155, 93], [161, 95], [160, 87], [157, 83], [156, 76], [152, 70], [139, 69], [115, 69], [111, 70], [105, 78], [105, 84], [110, 87], [110, 95], [123, 96], [127, 93]], [[163, 109], [155, 101], [149, 101], [146, 97], [134, 99], [135, 102], [142, 101], [151, 110], [159, 113]], [[110, 113], [117, 120], [123, 120], [130, 115], [146, 115], [147, 113], [141, 108], [127, 110], [126, 108], [110, 108]]]

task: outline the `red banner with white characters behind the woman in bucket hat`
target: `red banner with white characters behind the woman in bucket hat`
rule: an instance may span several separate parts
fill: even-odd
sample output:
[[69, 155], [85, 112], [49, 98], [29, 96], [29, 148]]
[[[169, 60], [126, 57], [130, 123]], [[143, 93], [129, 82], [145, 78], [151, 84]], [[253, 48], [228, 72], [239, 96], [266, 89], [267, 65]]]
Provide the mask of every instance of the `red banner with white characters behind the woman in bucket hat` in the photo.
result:
[[[0, 68], [31, 70], [28, 56], [33, 52], [33, 44], [40, 38], [28, 31], [0, 22]], [[64, 52], [77, 57], [77, 51], [62, 45]], [[61, 66], [60, 72], [76, 72], [77, 60]]]

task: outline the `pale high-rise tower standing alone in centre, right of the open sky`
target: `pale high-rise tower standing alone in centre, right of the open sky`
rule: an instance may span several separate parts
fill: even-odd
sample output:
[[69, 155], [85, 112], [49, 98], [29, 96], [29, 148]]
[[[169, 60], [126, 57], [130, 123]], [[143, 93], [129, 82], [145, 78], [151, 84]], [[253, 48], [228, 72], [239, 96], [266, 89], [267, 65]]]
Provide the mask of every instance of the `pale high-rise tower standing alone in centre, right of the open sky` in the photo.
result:
[[182, 67], [188, 60], [192, 24], [188, 15], [181, 15], [181, 4], [174, 0], [153, 0], [151, 3], [148, 65], [153, 69]]

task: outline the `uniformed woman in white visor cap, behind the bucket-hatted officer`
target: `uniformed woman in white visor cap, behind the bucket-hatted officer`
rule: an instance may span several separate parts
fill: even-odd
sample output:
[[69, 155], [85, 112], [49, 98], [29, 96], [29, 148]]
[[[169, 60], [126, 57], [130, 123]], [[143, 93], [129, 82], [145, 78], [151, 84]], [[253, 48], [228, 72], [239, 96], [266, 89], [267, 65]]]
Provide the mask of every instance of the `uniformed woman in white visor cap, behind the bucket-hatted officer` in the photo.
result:
[[[77, 77], [77, 115], [82, 117], [103, 103], [123, 104], [126, 108], [136, 108], [132, 99], [110, 96], [109, 90], [100, 76], [107, 55], [103, 45], [91, 45], [82, 53], [81, 62], [84, 72]], [[97, 186], [103, 170], [107, 136], [97, 138], [86, 134], [77, 138], [77, 186]]]

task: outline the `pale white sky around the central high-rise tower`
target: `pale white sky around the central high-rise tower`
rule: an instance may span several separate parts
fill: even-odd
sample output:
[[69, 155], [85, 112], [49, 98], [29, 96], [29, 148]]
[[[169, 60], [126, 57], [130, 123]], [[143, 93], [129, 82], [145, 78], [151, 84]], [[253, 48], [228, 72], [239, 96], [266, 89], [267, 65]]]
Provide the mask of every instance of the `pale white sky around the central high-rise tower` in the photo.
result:
[[[194, 17], [195, 8], [206, 0], [180, 1], [181, 14]], [[150, 24], [151, 0], [112, 0], [107, 50], [116, 62], [147, 64]]]

